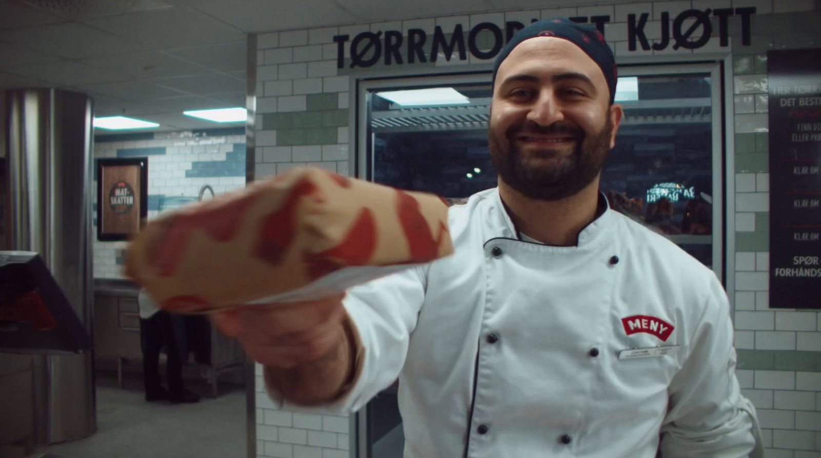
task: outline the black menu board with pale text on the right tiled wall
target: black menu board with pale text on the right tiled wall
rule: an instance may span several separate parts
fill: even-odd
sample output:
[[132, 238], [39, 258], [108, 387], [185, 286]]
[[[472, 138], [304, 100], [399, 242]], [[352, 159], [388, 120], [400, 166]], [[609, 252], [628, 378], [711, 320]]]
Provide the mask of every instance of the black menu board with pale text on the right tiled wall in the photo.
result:
[[821, 309], [821, 49], [769, 51], [772, 308]]

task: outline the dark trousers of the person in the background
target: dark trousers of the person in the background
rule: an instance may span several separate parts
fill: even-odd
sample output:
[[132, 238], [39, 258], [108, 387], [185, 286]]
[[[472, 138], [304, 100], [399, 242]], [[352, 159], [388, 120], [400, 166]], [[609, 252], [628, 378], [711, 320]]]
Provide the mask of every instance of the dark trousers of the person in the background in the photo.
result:
[[166, 363], [168, 392], [181, 393], [183, 391], [182, 361], [180, 351], [177, 349], [177, 339], [174, 337], [171, 315], [160, 310], [150, 318], [140, 319], [140, 344], [143, 350], [143, 378], [146, 394], [154, 395], [161, 389], [159, 352], [163, 350], [163, 345], [166, 347], [168, 356]]

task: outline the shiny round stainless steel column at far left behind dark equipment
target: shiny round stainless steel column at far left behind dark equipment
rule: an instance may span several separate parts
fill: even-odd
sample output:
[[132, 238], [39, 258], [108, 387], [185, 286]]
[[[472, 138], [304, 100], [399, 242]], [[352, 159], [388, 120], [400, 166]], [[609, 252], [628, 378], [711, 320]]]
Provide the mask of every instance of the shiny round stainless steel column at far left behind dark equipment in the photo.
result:
[[[39, 252], [90, 332], [91, 98], [16, 89], [6, 92], [5, 108], [10, 248]], [[38, 443], [94, 433], [92, 355], [35, 356], [32, 409]]]

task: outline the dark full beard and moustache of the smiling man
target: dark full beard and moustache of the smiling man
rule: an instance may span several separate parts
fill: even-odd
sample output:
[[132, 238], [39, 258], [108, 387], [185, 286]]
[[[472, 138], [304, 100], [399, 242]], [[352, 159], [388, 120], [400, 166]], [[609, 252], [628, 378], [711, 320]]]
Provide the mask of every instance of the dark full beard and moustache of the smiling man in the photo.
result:
[[[553, 167], [537, 167], [528, 163], [514, 139], [521, 131], [539, 134], [562, 133], [576, 140], [576, 149], [569, 158]], [[543, 127], [532, 121], [511, 126], [500, 138], [488, 127], [490, 159], [502, 181], [525, 197], [539, 200], [560, 200], [576, 195], [599, 176], [610, 150], [612, 123], [610, 117], [602, 130], [585, 135], [579, 126], [556, 122]], [[545, 154], [557, 154], [544, 148]]]

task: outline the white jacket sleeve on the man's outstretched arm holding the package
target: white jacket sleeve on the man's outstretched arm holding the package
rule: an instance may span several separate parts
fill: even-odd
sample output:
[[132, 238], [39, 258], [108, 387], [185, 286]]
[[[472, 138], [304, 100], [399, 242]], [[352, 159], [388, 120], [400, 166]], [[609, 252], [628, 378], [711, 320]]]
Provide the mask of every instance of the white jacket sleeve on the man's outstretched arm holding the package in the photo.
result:
[[305, 407], [282, 398], [267, 382], [268, 396], [279, 409], [304, 413], [350, 414], [391, 385], [405, 365], [410, 333], [424, 301], [429, 264], [420, 264], [347, 291], [342, 305], [353, 323], [358, 352], [355, 379], [329, 405]]

